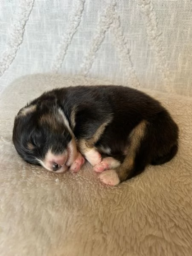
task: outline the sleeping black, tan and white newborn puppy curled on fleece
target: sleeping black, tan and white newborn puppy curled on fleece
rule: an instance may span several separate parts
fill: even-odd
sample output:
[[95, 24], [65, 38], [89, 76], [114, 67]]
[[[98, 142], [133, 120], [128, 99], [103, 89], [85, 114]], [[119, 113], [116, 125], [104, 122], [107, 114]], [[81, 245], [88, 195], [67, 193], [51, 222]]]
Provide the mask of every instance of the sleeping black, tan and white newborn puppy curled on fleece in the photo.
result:
[[157, 100], [122, 86], [49, 91], [19, 111], [13, 129], [27, 162], [77, 172], [85, 157], [108, 185], [171, 160], [177, 140], [177, 125]]

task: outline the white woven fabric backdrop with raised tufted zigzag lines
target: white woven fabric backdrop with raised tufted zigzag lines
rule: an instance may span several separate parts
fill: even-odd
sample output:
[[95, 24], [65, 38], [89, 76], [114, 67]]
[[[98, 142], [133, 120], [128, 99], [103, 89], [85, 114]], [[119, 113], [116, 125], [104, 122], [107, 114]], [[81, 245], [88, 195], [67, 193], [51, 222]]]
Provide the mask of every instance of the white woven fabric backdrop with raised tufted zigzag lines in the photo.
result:
[[190, 0], [0, 0], [0, 91], [59, 72], [192, 96]]

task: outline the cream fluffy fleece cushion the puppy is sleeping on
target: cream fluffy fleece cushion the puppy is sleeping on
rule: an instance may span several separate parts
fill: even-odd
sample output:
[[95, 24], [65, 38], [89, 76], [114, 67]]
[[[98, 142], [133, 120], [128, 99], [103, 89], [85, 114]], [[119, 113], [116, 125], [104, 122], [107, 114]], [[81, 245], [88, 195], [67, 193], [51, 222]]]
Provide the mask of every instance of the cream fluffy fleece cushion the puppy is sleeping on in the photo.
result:
[[0, 99], [1, 256], [191, 256], [192, 102], [148, 91], [180, 128], [177, 157], [116, 187], [86, 163], [76, 175], [24, 163], [11, 142], [14, 116], [44, 90], [108, 84], [82, 77], [35, 75]]

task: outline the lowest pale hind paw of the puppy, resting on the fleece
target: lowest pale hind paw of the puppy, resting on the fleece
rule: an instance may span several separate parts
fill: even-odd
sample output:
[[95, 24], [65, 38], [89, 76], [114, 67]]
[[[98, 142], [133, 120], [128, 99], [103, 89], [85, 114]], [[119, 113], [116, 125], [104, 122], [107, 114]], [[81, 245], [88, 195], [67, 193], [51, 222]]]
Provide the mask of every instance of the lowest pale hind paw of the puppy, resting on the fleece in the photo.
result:
[[99, 174], [99, 179], [102, 183], [110, 186], [115, 186], [120, 183], [119, 176], [115, 170], [107, 170]]

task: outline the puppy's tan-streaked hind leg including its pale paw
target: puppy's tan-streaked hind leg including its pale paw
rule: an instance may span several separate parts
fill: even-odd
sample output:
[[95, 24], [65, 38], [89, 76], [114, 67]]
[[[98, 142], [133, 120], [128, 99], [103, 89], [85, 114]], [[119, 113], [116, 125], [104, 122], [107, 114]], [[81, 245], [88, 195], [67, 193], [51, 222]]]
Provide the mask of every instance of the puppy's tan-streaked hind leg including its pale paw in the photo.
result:
[[102, 183], [115, 186], [122, 181], [125, 181], [134, 176], [135, 172], [135, 157], [140, 149], [141, 140], [145, 136], [146, 121], [142, 121], [137, 125], [129, 136], [129, 145], [127, 155], [123, 163], [116, 169], [107, 170], [99, 175]]

